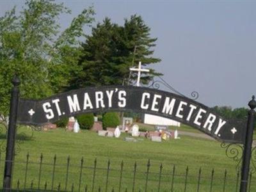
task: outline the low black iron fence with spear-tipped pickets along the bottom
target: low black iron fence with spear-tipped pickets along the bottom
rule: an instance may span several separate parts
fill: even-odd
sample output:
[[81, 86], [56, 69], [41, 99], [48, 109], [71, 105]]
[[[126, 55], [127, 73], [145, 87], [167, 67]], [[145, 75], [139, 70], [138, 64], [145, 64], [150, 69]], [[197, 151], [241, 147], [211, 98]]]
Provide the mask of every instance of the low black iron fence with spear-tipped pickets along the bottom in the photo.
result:
[[[60, 160], [60, 163], [58, 163]], [[1, 171], [4, 160], [0, 154]], [[92, 162], [82, 157], [47, 158], [26, 155], [15, 160], [12, 191], [239, 191], [240, 172], [205, 168], [180, 170], [175, 165]], [[3, 180], [3, 176], [0, 177]], [[255, 177], [250, 174], [248, 191], [256, 191]]]

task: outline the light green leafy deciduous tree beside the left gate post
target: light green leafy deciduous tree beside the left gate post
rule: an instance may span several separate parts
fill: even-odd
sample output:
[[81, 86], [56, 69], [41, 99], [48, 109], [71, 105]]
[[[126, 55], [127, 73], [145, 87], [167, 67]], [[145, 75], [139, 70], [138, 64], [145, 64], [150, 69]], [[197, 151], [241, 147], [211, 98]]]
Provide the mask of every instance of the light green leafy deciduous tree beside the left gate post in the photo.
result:
[[23, 10], [15, 8], [0, 18], [0, 115], [8, 115], [12, 78], [21, 79], [20, 95], [38, 99], [59, 92], [77, 70], [81, 56], [79, 38], [93, 21], [93, 9], [84, 9], [60, 32], [58, 18], [70, 13], [54, 1], [27, 0]]

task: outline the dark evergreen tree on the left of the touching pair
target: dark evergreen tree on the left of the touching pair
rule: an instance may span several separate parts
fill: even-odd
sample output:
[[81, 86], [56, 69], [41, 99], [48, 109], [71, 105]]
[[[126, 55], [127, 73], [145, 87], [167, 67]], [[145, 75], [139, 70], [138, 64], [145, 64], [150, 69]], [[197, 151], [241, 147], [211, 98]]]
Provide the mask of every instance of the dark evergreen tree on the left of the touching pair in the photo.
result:
[[97, 27], [92, 29], [92, 35], [87, 36], [82, 45], [83, 56], [79, 61], [81, 70], [72, 79], [71, 88], [116, 83], [117, 79], [114, 81], [111, 76], [115, 73], [113, 56], [116, 51], [115, 34], [118, 28], [106, 18], [102, 24], [97, 24]]

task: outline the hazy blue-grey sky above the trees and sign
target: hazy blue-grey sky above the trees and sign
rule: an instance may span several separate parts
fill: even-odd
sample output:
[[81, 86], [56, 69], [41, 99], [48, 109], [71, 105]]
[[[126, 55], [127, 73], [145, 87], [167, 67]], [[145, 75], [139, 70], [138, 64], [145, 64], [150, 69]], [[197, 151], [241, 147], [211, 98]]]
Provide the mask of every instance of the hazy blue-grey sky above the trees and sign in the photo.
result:
[[[121, 25], [141, 15], [157, 38], [154, 56], [162, 60], [150, 67], [180, 93], [198, 92], [206, 106], [247, 107], [256, 95], [256, 0], [57, 2], [72, 10], [60, 17], [63, 29], [90, 5], [94, 26], [105, 17]], [[14, 5], [21, 10], [24, 1], [0, 0], [0, 17]]]

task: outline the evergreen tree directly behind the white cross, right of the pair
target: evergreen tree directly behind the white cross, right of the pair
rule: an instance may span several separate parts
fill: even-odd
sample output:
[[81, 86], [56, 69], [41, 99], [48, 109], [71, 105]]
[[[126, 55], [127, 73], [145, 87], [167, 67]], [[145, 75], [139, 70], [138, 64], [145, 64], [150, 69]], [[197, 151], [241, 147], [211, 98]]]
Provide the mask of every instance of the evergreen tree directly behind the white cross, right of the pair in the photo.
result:
[[[156, 40], [157, 38], [150, 38], [150, 28], [141, 16], [132, 15], [130, 19], [125, 19], [123, 41], [127, 50], [125, 52], [128, 54], [125, 56], [125, 65], [134, 67], [140, 61], [143, 66], [159, 63], [161, 60], [152, 56], [154, 54], [152, 48], [156, 46]], [[132, 79], [136, 79], [136, 74], [132, 74], [130, 71], [127, 71], [127, 74], [129, 74], [128, 78], [126, 75], [128, 84]], [[152, 77], [159, 75], [161, 74], [151, 68], [149, 75], [141, 77], [141, 83], [146, 84]]]

